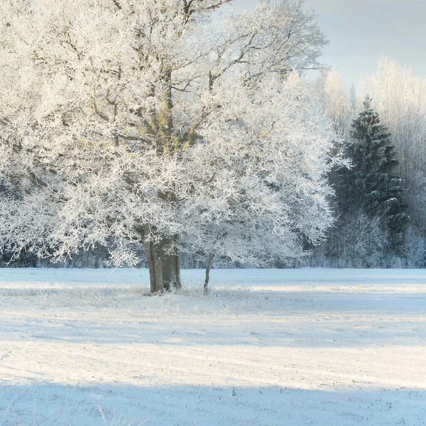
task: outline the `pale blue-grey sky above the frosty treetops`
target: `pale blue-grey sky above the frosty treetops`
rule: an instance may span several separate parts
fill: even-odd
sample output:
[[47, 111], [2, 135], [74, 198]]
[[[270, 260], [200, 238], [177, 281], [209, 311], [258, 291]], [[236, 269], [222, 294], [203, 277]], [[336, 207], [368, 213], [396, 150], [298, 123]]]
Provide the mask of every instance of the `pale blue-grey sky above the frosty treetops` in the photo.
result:
[[[237, 0], [235, 9], [252, 10], [258, 0]], [[426, 0], [305, 0], [315, 9], [330, 40], [323, 60], [356, 84], [388, 55], [426, 75]]]

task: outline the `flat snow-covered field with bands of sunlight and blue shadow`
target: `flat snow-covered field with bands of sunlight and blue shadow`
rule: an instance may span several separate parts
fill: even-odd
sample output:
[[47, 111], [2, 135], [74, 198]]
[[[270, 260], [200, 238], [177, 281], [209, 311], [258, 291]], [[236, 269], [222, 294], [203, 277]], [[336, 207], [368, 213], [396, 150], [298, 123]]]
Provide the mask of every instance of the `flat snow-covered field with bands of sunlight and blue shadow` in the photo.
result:
[[426, 272], [0, 270], [0, 425], [425, 425]]

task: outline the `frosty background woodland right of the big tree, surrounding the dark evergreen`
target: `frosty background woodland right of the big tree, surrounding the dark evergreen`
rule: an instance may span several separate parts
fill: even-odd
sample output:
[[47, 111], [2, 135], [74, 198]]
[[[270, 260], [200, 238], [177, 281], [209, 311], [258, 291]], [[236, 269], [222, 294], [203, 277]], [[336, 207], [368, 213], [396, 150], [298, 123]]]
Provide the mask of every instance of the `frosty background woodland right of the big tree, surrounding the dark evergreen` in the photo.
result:
[[[381, 124], [388, 133], [386, 145], [393, 147], [391, 154], [395, 165], [388, 174], [399, 179], [398, 198], [400, 213], [408, 217], [401, 228], [402, 235], [395, 244], [395, 230], [387, 224], [386, 214], [371, 212], [368, 206], [359, 205], [354, 194], [348, 193], [342, 175], [347, 170], [333, 170], [329, 179], [336, 190], [334, 212], [336, 222], [329, 231], [327, 242], [313, 249], [308, 258], [310, 266], [354, 267], [354, 268], [422, 268], [426, 253], [426, 78], [414, 75], [409, 67], [383, 57], [371, 75], [362, 77], [358, 87], [350, 91], [344, 87], [337, 70], [322, 72], [315, 81], [315, 92], [320, 97], [327, 115], [337, 131], [344, 136], [341, 147], [351, 158], [351, 146], [359, 144], [354, 135], [354, 120], [365, 110], [366, 97], [371, 99], [371, 108], [378, 114]], [[351, 158], [353, 169], [349, 171], [351, 182], [356, 185], [356, 169], [366, 165], [367, 157], [376, 172], [383, 171], [383, 155]], [[384, 155], [386, 156], [386, 155]], [[359, 167], [358, 167], [359, 168]], [[359, 178], [359, 177], [358, 177]], [[349, 180], [350, 182], [350, 180]], [[391, 185], [389, 188], [394, 187]], [[398, 186], [398, 185], [397, 185]], [[380, 184], [365, 191], [381, 190]], [[391, 189], [392, 190], [392, 189]]]

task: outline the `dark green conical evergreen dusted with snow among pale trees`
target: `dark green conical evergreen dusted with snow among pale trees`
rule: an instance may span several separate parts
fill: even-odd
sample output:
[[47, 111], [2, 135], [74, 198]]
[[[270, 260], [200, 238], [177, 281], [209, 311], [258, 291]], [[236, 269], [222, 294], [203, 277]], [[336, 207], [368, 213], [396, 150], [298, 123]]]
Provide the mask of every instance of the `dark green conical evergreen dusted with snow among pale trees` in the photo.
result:
[[408, 224], [404, 188], [400, 178], [393, 174], [395, 160], [386, 126], [366, 98], [364, 111], [351, 125], [351, 142], [347, 155], [354, 165], [343, 170], [338, 187], [339, 204], [343, 214], [361, 209], [369, 217], [381, 217], [388, 230], [391, 249], [398, 249], [403, 231]]

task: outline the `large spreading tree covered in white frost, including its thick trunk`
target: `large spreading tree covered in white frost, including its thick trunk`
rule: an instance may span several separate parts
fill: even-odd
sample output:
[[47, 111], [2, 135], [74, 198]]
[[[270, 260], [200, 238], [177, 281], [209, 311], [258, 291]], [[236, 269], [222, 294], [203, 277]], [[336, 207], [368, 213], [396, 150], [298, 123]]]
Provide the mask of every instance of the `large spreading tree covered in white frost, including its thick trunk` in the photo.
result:
[[151, 291], [182, 250], [261, 264], [332, 222], [334, 137], [297, 73], [324, 35], [301, 2], [3, 0], [2, 249], [142, 243]]

